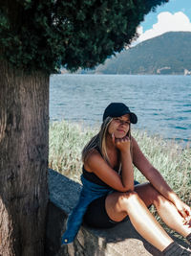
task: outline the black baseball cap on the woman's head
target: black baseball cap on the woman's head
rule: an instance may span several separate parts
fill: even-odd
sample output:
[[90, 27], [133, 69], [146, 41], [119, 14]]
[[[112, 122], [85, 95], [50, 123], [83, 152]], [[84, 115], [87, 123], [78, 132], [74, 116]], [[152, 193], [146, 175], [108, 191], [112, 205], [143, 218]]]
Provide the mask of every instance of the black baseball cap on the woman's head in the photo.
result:
[[130, 122], [132, 124], [138, 123], [138, 117], [135, 113], [131, 112], [127, 105], [122, 103], [112, 103], [105, 108], [103, 113], [103, 121], [108, 117], [119, 117], [125, 114], [130, 115]]

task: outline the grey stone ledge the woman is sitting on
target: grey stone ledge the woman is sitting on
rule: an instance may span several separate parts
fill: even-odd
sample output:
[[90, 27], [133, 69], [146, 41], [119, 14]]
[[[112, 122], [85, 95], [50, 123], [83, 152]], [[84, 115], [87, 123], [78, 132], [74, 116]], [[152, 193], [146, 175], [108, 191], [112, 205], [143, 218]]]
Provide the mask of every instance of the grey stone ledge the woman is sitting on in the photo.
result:
[[[47, 216], [46, 256], [160, 256], [161, 253], [142, 239], [130, 221], [110, 229], [81, 226], [73, 244], [60, 247], [68, 214], [77, 202], [81, 185], [49, 170], [50, 202]], [[182, 241], [179, 241], [182, 244]]]

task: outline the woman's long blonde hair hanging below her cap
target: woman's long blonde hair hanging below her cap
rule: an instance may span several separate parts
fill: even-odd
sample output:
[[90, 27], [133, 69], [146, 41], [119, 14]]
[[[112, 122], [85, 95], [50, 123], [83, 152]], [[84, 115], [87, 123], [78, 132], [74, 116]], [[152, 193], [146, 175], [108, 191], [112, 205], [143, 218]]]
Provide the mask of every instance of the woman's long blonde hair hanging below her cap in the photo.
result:
[[[83, 151], [82, 151], [82, 161], [83, 163], [85, 163], [87, 157], [95, 150], [98, 150], [100, 152], [100, 154], [102, 155], [103, 159], [111, 166], [110, 164], [110, 160], [108, 157], [108, 153], [107, 153], [107, 147], [106, 147], [106, 134], [108, 131], [108, 128], [112, 122], [113, 118], [112, 117], [107, 117], [101, 127], [99, 132], [96, 134], [96, 136], [94, 136], [84, 147]], [[129, 130], [127, 132], [128, 137], [131, 140], [131, 125], [129, 127]], [[131, 150], [131, 154], [132, 154], [132, 143], [130, 146], [130, 150]]]

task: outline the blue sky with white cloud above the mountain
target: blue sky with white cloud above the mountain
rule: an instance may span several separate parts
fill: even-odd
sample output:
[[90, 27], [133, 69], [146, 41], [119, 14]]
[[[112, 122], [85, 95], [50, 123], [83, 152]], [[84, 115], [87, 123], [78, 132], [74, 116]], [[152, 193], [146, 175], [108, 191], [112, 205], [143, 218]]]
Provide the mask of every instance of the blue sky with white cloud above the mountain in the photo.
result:
[[191, 32], [191, 0], [169, 0], [150, 12], [138, 27], [138, 42], [169, 31]]

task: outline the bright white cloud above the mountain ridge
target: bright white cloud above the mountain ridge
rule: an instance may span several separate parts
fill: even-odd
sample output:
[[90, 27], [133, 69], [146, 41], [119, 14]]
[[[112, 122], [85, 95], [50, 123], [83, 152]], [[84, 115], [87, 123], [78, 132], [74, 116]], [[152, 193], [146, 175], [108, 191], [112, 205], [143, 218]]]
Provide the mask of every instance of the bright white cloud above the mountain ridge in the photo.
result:
[[143, 33], [142, 27], [138, 27], [139, 37], [133, 45], [170, 31], [191, 32], [191, 22], [189, 18], [183, 12], [176, 12], [174, 14], [171, 12], [160, 12], [158, 22], [153, 25], [151, 30]]

